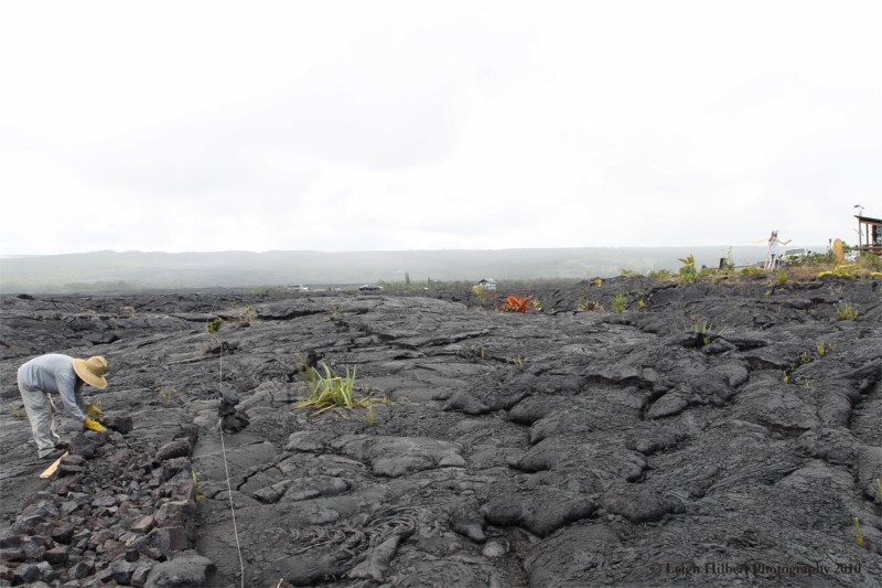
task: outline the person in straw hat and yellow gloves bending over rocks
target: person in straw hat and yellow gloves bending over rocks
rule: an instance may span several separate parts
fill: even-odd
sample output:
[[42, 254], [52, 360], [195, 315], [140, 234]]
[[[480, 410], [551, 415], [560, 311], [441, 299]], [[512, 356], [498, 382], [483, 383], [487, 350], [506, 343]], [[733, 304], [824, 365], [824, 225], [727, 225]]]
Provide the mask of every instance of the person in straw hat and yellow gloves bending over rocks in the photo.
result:
[[55, 459], [66, 447], [55, 432], [51, 393], [58, 394], [67, 411], [87, 429], [107, 430], [95, 420], [104, 413], [83, 398], [84, 384], [101, 389], [107, 386], [105, 372], [107, 360], [100, 355], [76, 360], [61, 353], [40, 355], [19, 367], [19, 392], [28, 410], [40, 459]]

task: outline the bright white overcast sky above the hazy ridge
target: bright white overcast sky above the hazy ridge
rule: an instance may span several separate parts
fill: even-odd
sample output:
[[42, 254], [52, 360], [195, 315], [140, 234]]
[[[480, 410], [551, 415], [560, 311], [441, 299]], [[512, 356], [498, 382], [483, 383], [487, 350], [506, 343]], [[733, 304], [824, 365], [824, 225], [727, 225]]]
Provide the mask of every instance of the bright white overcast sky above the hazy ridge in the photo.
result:
[[882, 3], [3, 2], [0, 254], [857, 240]]

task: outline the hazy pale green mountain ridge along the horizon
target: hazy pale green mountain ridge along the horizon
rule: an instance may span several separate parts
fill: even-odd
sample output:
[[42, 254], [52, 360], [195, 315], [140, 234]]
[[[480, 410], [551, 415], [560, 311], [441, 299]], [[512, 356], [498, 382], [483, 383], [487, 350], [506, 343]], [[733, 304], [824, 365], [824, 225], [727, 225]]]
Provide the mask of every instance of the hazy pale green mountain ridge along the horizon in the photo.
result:
[[[817, 249], [816, 249], [817, 250]], [[0, 292], [247, 288], [291, 284], [610, 277], [622, 269], [676, 270], [678, 258], [747, 265], [765, 247], [580, 247], [409, 252], [93, 252], [0, 258]]]

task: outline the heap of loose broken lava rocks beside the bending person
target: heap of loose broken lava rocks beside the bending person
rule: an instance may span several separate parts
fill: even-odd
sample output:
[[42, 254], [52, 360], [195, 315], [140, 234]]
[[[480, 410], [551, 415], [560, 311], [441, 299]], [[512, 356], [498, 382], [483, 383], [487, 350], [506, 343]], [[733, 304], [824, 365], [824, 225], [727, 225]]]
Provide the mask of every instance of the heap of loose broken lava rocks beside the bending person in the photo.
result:
[[198, 429], [182, 428], [159, 449], [130, 445], [129, 430], [123, 418], [74, 438], [47, 489], [0, 536], [0, 586], [211, 584], [214, 564], [192, 549]]

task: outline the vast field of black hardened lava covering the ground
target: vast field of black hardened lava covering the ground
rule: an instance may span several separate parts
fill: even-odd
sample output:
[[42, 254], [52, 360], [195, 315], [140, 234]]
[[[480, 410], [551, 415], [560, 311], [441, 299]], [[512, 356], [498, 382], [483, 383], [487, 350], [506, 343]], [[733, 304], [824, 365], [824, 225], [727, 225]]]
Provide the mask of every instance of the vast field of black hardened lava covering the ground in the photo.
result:
[[[882, 281], [505, 293], [2, 298], [0, 586], [882, 584]], [[47, 480], [43, 353], [109, 363]]]

